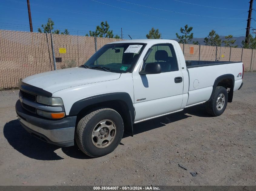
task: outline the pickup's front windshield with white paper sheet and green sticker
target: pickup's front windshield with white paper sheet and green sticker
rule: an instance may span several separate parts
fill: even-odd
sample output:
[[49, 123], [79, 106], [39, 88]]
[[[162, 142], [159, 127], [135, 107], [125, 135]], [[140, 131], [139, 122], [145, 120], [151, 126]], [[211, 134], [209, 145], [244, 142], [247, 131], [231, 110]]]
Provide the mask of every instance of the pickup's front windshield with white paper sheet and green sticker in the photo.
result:
[[[90, 69], [100, 69], [108, 72], [132, 72], [145, 43], [107, 44], [99, 49], [84, 65]], [[100, 69], [100, 70], [102, 70]]]

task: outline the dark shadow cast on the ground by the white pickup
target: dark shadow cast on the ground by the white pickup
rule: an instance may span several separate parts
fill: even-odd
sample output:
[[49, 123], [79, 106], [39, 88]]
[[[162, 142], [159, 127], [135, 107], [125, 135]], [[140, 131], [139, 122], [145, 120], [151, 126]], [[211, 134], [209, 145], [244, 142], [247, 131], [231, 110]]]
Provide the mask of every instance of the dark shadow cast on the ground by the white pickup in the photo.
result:
[[[173, 113], [170, 115], [158, 117], [145, 122], [141, 122], [134, 125], [134, 135], [150, 131], [152, 129], [160, 128], [166, 124], [186, 119], [188, 117], [199, 116], [199, 117], [211, 117], [205, 113], [205, 110], [201, 106], [195, 106], [187, 108], [184, 111]], [[23, 127], [19, 124], [18, 119], [12, 120], [5, 124], [3, 134], [7, 139], [8, 143], [18, 152], [23, 155], [33, 158], [36, 160], [61, 160], [64, 159], [55, 153], [55, 150], [61, 148], [57, 145], [52, 145], [42, 140], [31, 136]], [[124, 134], [123, 138], [129, 135]], [[120, 143], [123, 145], [122, 143]], [[76, 146], [63, 147], [62, 151], [71, 158], [78, 159], [91, 159], [90, 157], [83, 154]]]

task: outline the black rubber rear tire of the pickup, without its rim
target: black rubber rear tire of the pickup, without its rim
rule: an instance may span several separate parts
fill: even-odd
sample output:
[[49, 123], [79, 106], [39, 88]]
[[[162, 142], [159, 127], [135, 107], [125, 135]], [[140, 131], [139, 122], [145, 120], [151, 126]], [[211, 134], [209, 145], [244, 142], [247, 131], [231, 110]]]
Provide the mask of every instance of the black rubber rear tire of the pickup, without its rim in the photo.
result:
[[[224, 94], [225, 101], [224, 101], [223, 108], [222, 109], [219, 108], [220, 110], [218, 110], [216, 102], [219, 95], [221, 94]], [[228, 92], [226, 88], [222, 86], [217, 86], [211, 99], [206, 102], [206, 111], [212, 116], [220, 116], [225, 111], [227, 104], [228, 104]]]

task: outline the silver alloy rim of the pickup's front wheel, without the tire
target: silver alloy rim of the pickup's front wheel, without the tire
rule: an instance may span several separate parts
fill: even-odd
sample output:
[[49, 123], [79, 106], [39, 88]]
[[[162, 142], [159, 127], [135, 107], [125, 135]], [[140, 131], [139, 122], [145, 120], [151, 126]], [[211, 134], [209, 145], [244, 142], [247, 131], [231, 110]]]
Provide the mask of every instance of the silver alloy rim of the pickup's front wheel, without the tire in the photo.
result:
[[113, 142], [115, 135], [115, 123], [110, 119], [104, 119], [94, 127], [91, 134], [91, 140], [96, 147], [104, 148]]

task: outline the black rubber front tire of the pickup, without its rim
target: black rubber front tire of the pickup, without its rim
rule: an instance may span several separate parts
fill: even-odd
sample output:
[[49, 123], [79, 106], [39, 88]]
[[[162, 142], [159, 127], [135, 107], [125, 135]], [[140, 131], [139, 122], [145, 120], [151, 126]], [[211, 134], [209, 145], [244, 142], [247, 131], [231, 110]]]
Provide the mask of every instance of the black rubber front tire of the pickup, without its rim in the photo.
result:
[[[109, 119], [115, 124], [115, 137], [111, 143], [104, 147], [98, 148], [92, 140], [92, 133], [95, 126], [102, 120]], [[110, 108], [98, 108], [95, 111], [84, 116], [77, 124], [75, 132], [75, 141], [78, 148], [90, 157], [101, 157], [111, 153], [121, 142], [124, 134], [124, 122], [119, 113]]]

